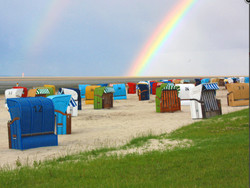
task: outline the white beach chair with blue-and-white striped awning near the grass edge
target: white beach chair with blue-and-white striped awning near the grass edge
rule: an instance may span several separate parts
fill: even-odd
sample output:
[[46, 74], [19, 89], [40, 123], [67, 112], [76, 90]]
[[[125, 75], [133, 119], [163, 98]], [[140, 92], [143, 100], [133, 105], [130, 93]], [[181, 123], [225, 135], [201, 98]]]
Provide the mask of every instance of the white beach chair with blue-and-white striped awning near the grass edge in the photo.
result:
[[190, 91], [192, 119], [210, 118], [221, 115], [221, 101], [216, 99], [217, 83], [201, 84]]

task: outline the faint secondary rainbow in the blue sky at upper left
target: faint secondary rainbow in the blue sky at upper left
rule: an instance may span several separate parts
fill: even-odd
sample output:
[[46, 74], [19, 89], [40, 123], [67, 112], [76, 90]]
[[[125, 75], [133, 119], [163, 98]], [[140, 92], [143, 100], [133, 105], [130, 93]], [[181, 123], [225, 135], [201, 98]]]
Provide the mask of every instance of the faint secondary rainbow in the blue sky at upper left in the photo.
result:
[[29, 32], [26, 42], [26, 53], [38, 55], [48, 41], [49, 35], [56, 29], [62, 19], [64, 10], [68, 7], [70, 0], [51, 0], [46, 6], [44, 14]]

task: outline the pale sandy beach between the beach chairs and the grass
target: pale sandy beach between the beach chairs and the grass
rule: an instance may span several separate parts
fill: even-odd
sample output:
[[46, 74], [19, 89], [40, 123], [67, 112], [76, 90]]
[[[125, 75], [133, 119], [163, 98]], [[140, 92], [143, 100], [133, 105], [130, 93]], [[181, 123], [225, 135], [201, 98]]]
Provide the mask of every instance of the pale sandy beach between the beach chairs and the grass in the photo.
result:
[[[227, 90], [217, 91], [221, 99], [222, 113], [229, 113], [248, 107], [228, 107]], [[139, 101], [136, 94], [127, 95], [127, 100], [114, 101], [114, 108], [94, 110], [93, 105], [85, 105], [72, 117], [72, 134], [59, 135], [57, 147], [43, 147], [29, 150], [8, 148], [7, 121], [9, 112], [4, 107], [5, 99], [0, 95], [0, 166], [15, 167], [19, 159], [32, 164], [34, 160], [51, 159], [69, 153], [86, 151], [103, 146], [120, 146], [140, 135], [169, 133], [194, 121], [189, 106], [182, 106], [174, 113], [156, 113], [155, 96], [149, 101]]]

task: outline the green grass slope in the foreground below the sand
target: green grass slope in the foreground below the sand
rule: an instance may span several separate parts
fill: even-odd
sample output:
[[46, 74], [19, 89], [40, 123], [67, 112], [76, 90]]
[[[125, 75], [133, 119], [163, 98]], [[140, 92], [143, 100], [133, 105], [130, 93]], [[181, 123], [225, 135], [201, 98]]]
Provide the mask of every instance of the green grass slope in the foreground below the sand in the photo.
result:
[[[167, 122], [166, 122], [167, 126]], [[149, 139], [192, 140], [186, 148], [124, 157], [108, 151], [140, 147]], [[0, 187], [248, 187], [249, 109], [182, 127], [171, 134], [0, 170]]]

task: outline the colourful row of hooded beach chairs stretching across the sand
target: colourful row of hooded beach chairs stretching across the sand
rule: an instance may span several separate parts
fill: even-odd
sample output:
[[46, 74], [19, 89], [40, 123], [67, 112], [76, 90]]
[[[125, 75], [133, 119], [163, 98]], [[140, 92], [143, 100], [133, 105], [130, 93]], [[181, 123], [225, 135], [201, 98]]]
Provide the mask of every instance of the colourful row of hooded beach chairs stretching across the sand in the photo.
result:
[[[220, 100], [216, 99], [216, 90], [219, 89], [217, 83], [197, 86], [166, 81], [155, 83], [161, 83], [156, 87], [156, 112], [175, 112], [181, 110], [182, 105], [190, 105], [193, 119], [222, 114]], [[150, 84], [150, 82], [128, 83], [127, 93], [133, 91], [135, 94], [137, 91], [140, 101], [149, 100]], [[60, 88], [58, 95], [55, 95], [55, 87], [50, 86], [35, 88], [36, 92], [24, 87], [14, 87], [5, 92], [11, 116], [11, 121], [8, 122], [10, 148], [23, 150], [58, 145], [57, 135], [71, 134], [71, 117], [77, 116], [78, 110], [82, 109], [83, 96], [85, 104], [94, 104], [94, 109], [112, 108], [113, 100], [127, 98], [125, 84], [109, 85], [112, 87], [86, 85], [84, 90], [83, 85], [79, 85], [79, 89]], [[48, 89], [50, 93], [42, 90], [49, 87], [52, 88]], [[228, 105], [249, 104], [249, 84], [231, 83], [227, 84], [227, 89]], [[14, 90], [18, 92], [15, 94], [10, 92]], [[32, 93], [35, 93], [35, 96], [28, 97]]]

